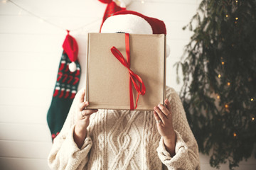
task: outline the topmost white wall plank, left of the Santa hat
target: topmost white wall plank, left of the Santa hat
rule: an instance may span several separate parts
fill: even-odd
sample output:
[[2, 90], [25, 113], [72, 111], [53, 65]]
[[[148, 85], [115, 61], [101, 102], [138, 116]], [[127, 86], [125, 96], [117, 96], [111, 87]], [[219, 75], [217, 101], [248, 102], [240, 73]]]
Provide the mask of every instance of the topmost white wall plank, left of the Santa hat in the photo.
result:
[[[87, 1], [74, 1], [70, 3], [69, 0], [23, 0], [14, 1], [18, 6], [6, 1], [6, 3], [0, 4], [0, 15], [21, 15], [28, 16], [31, 13], [36, 16], [88, 16], [88, 13], [93, 13], [94, 16], [102, 17], [105, 11], [106, 5], [99, 1], [87, 0]], [[27, 13], [22, 8], [30, 11]], [[97, 10], [95, 10], [97, 9]]]

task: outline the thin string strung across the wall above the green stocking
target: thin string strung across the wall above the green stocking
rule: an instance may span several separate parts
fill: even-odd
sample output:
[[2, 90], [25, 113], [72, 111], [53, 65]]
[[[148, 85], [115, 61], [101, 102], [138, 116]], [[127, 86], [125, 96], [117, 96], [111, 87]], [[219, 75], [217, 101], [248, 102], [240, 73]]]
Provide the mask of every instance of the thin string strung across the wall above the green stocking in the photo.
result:
[[[12, 1], [12, 0], [8, 0], [8, 1], [11, 2], [11, 4], [14, 4], [15, 6], [17, 6], [18, 8], [21, 8], [23, 11], [26, 11], [27, 13], [31, 14], [31, 16], [34, 16], [34, 17], [36, 17], [36, 18], [39, 18], [39, 19], [41, 19], [41, 21], [44, 21], [45, 23], [48, 23], [48, 24], [50, 24], [51, 26], [54, 26], [54, 27], [56, 27], [56, 28], [59, 28], [60, 30], [65, 30], [65, 31], [67, 30], [66, 28], [63, 28], [63, 27], [61, 27], [61, 26], [58, 26], [57, 24], [52, 23], [52, 22], [50, 22], [50, 21], [47, 21], [45, 18], [43, 18], [43, 17], [41, 17], [41, 16], [38, 16], [38, 15], [36, 15], [35, 13], [32, 13], [31, 11], [28, 11], [26, 8], [23, 8], [22, 6], [16, 4], [16, 3], [15, 3], [14, 1]], [[81, 27], [79, 27], [79, 28], [69, 29], [69, 30], [70, 30], [70, 31], [80, 30], [80, 29], [84, 28], [85, 26], [90, 26], [91, 24], [96, 23], [97, 21], [101, 21], [101, 18], [99, 18], [99, 19], [97, 19], [97, 20], [95, 20], [95, 21], [92, 21], [92, 22], [90, 22], [90, 23], [87, 23], [87, 24], [85, 24], [84, 26], [81, 26]]]

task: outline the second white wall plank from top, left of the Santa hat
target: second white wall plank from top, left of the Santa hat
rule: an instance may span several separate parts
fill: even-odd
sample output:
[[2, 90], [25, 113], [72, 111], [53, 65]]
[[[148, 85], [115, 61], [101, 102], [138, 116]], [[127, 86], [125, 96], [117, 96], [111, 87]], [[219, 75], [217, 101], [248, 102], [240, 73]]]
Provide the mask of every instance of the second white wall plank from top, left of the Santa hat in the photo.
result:
[[[0, 33], [26, 33], [58, 35], [66, 29], [73, 30], [97, 26], [102, 18], [85, 17], [45, 17], [46, 21], [35, 16], [0, 16]], [[50, 22], [50, 23], [48, 23]], [[56, 26], [53, 26], [53, 25]], [[18, 29], [17, 29], [18, 28]]]

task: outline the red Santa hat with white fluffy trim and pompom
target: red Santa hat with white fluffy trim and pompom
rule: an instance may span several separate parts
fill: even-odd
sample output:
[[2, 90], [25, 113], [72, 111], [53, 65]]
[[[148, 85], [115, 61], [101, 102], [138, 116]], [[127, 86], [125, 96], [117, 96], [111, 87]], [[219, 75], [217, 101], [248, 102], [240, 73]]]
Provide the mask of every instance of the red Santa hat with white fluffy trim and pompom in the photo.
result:
[[[164, 21], [135, 11], [117, 11], [102, 22], [100, 33], [166, 34]], [[169, 46], [166, 55], [169, 56]]]

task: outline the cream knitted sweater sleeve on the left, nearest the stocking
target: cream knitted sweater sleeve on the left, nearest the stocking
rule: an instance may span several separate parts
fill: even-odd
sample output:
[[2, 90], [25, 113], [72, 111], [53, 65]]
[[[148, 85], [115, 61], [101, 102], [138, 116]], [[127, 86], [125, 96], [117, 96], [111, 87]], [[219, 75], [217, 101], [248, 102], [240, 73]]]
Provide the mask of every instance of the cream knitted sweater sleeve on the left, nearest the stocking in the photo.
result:
[[88, 153], [92, 147], [92, 140], [87, 131], [87, 137], [81, 149], [76, 145], [73, 132], [77, 115], [74, 109], [78, 105], [78, 98], [75, 98], [70, 108], [70, 112], [65, 120], [62, 130], [53, 140], [53, 146], [48, 156], [50, 169], [84, 169], [88, 162]]

